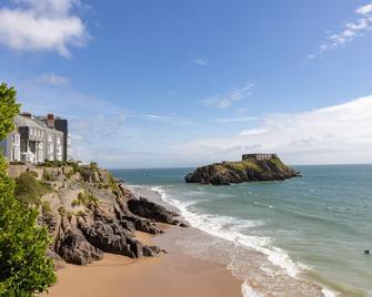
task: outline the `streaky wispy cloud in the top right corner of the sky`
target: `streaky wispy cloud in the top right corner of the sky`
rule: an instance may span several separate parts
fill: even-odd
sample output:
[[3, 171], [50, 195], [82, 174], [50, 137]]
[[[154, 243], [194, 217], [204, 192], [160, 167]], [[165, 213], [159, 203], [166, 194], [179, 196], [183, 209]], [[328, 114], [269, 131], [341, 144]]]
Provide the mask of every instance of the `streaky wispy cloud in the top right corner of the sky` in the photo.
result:
[[355, 10], [358, 16], [354, 21], [345, 22], [342, 30], [332, 34], [328, 32], [326, 41], [319, 47], [316, 53], [308, 55], [309, 59], [315, 58], [318, 54], [329, 52], [352, 42], [355, 38], [363, 37], [372, 29], [372, 3], [360, 7]]

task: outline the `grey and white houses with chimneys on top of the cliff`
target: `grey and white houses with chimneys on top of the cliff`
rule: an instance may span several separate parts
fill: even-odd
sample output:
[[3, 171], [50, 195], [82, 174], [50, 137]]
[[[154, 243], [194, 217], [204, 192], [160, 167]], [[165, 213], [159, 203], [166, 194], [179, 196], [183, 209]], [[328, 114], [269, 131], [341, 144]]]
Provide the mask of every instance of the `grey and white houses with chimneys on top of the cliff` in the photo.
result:
[[47, 116], [32, 116], [22, 113], [14, 117], [16, 130], [0, 143], [9, 162], [42, 163], [68, 161], [71, 158], [71, 141], [68, 121]]

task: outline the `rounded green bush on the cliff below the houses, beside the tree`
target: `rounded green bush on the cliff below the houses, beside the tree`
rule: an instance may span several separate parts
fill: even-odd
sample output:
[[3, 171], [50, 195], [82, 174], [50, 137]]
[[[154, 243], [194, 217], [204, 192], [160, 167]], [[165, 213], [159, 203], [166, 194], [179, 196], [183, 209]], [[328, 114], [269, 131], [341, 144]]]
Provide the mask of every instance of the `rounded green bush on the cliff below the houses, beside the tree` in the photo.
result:
[[31, 172], [24, 172], [16, 178], [14, 195], [27, 205], [40, 205], [41, 196], [49, 192], [52, 192], [52, 187], [34, 178]]

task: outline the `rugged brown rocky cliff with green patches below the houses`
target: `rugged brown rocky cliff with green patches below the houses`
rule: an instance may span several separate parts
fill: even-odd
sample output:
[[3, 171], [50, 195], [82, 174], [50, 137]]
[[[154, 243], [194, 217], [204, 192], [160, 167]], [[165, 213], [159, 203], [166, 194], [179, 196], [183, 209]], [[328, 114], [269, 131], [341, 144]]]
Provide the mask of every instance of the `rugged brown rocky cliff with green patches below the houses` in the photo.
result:
[[[135, 231], [161, 233], [155, 222], [185, 226], [175, 213], [135, 197], [94, 163], [49, 163], [18, 175], [20, 198], [39, 207], [38, 223], [53, 237], [49, 255], [54, 259], [86, 265], [101, 259], [103, 253], [153, 256], [162, 250], [142, 244]], [[43, 192], [36, 192], [39, 187]]]

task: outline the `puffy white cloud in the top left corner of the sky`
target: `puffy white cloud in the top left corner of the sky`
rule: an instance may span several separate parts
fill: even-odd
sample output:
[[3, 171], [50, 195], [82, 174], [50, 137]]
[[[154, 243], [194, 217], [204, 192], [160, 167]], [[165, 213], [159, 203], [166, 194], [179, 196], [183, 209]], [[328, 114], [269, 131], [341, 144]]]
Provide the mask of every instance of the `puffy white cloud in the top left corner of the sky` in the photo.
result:
[[77, 0], [14, 0], [0, 9], [0, 42], [18, 51], [57, 51], [70, 55], [70, 45], [88, 40], [82, 20], [72, 13]]

